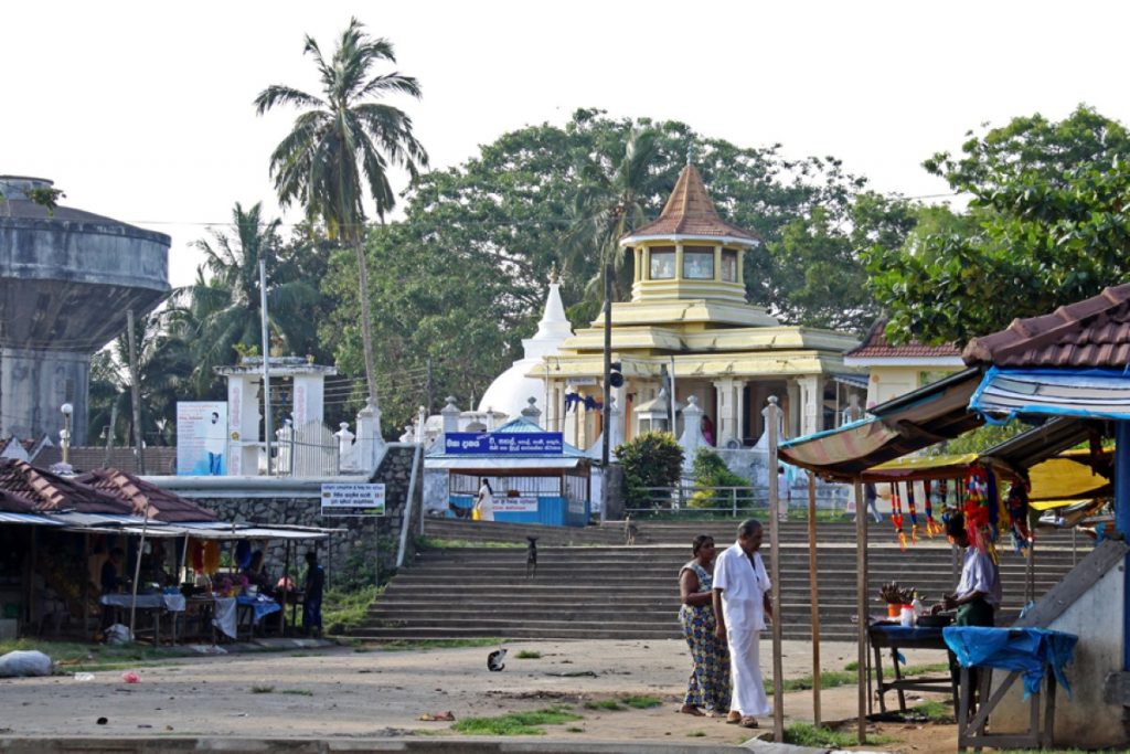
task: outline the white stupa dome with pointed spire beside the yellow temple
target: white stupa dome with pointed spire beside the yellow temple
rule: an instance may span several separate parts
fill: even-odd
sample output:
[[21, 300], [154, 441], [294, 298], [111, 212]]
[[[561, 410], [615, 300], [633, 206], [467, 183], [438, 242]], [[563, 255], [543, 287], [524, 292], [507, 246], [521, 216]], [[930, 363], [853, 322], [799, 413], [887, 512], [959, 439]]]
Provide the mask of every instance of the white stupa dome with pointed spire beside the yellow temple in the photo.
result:
[[573, 336], [562, 305], [560, 284], [556, 274], [549, 278], [549, 295], [546, 296], [546, 311], [538, 322], [538, 331], [532, 338], [522, 340], [524, 357], [514, 362], [508, 370], [499, 374], [479, 400], [479, 411], [495, 410], [506, 414], [510, 418], [522, 415], [522, 409], [529, 406], [530, 398], [537, 400], [542, 411], [546, 410], [546, 383], [542, 380], [527, 376], [539, 367], [545, 369], [545, 356], [553, 356], [560, 345]]

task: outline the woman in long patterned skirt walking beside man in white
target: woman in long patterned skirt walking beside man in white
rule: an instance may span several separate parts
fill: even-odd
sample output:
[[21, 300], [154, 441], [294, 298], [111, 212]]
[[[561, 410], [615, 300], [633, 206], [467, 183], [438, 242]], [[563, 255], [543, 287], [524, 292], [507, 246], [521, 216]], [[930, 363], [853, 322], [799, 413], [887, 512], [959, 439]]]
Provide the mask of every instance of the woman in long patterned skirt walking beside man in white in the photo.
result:
[[714, 582], [714, 538], [695, 537], [694, 560], [679, 569], [679, 623], [690, 647], [694, 669], [687, 681], [687, 695], [679, 711], [701, 716], [698, 708], [713, 714], [730, 709], [730, 652], [725, 643], [714, 638], [714, 607], [711, 589]]

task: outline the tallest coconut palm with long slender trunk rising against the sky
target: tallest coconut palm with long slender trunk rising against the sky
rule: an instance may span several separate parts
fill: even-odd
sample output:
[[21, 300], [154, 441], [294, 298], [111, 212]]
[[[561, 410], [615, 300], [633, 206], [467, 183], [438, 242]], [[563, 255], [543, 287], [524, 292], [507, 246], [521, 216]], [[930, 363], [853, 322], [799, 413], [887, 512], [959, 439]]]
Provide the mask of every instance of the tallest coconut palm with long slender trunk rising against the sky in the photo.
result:
[[412, 136], [411, 119], [403, 111], [371, 102], [395, 94], [419, 98], [420, 87], [415, 78], [399, 72], [374, 75], [375, 66], [394, 63], [397, 58], [388, 40], [373, 38], [363, 29], [360, 21], [350, 19], [330, 60], [322, 55], [318, 42], [306, 36], [303, 52], [318, 68], [321, 96], [272, 85], [255, 97], [254, 104], [260, 115], [276, 105], [303, 111], [290, 133], [275, 148], [270, 172], [279, 203], [302, 205], [308, 220], [324, 223], [331, 237], [351, 244], [357, 254], [365, 379], [370, 401], [375, 406], [376, 366], [364, 248], [365, 191], [375, 201], [376, 216], [383, 223], [395, 205], [389, 168], [407, 168], [415, 179], [417, 171], [427, 166], [427, 153]]

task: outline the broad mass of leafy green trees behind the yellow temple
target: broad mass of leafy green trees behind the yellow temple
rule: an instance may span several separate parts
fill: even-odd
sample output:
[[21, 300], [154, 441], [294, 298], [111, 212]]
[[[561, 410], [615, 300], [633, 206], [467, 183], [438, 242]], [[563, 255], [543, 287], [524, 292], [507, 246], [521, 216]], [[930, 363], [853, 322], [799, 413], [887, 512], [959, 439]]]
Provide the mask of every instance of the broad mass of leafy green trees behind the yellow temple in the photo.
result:
[[[393, 426], [421, 405], [420, 374], [429, 357], [434, 396], [454, 395], [467, 405], [481, 395], [519, 356], [520, 339], [536, 329], [554, 267], [564, 271], [562, 297], [573, 323], [588, 326], [597, 318], [601, 291], [589, 284], [598, 279], [599, 251], [567, 244], [566, 234], [575, 224], [579, 192], [597, 193], [589, 185], [593, 172], [611, 175], [634, 131], [654, 135], [649, 188], [634, 197], [647, 219], [659, 215], [693, 145], [695, 165], [719, 211], [765, 242], [746, 257], [750, 300], [786, 322], [867, 323], [872, 309], [860, 300], [866, 287], [855, 250], [872, 242], [898, 245], [894, 233], [905, 227], [907, 211], [902, 203], [857, 201], [863, 180], [832, 158], [786, 159], [780, 145], [740, 148], [676, 121], [615, 120], [579, 110], [564, 125], [505, 133], [462, 165], [421, 174], [407, 194], [403, 220], [368, 239], [374, 347], [383, 359], [377, 376], [410, 393], [383, 405]], [[790, 223], [807, 222], [817, 209], [824, 213], [822, 233], [834, 245], [818, 239], [810, 248], [800, 233], [781, 243]], [[798, 270], [820, 263], [825, 253], [834, 254], [834, 262], [822, 269], [836, 275], [803, 289]], [[629, 275], [631, 255], [618, 255], [626, 262], [620, 275]], [[618, 280], [619, 295], [626, 296], [628, 285]], [[323, 293], [338, 309], [321, 332], [345, 372], [364, 363], [357, 323], [368, 320], [360, 314], [357, 291], [356, 271], [334, 258]], [[840, 298], [842, 306], [834, 303]], [[858, 314], [850, 320], [837, 313], [841, 309]]]

